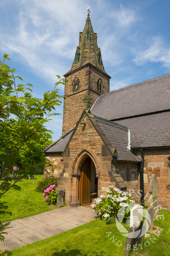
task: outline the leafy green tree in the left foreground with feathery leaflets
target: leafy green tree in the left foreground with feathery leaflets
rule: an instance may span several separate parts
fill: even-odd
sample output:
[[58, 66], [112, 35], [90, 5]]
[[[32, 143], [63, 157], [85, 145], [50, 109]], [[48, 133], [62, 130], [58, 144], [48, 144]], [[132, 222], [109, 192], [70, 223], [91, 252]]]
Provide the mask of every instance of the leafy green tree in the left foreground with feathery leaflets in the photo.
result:
[[[32, 171], [42, 170], [43, 166], [55, 168], [49, 159], [43, 155], [39, 161], [30, 161], [32, 148], [42, 144], [43, 138], [50, 139], [47, 135], [52, 133], [46, 129], [46, 122], [51, 120], [51, 116], [59, 115], [51, 113], [56, 106], [61, 104], [57, 85], [64, 84], [65, 79], [60, 78], [55, 83], [53, 91], [45, 92], [43, 99], [32, 97], [31, 84], [17, 84], [17, 79], [23, 81], [20, 76], [15, 76], [15, 69], [11, 69], [5, 64], [5, 60], [10, 60], [4, 54], [4, 61], [0, 61], [0, 198], [9, 189], [20, 190], [16, 184], [21, 178], [33, 177]], [[22, 163], [24, 170], [18, 170], [18, 177], [9, 177], [10, 167], [17, 163]], [[43, 167], [44, 168], [44, 167]], [[47, 170], [44, 168], [47, 172]], [[14, 184], [10, 182], [14, 180]], [[7, 212], [6, 203], [0, 203], [0, 217]], [[0, 222], [0, 240], [4, 240], [1, 232], [6, 226]]]

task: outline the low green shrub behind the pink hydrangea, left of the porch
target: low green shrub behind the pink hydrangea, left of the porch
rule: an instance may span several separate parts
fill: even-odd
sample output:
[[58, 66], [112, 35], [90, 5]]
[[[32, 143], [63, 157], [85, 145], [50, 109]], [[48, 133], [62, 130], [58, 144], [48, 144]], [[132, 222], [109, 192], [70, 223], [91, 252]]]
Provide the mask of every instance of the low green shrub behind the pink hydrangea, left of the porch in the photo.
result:
[[47, 174], [46, 178], [44, 178], [41, 181], [38, 181], [38, 185], [37, 185], [37, 188], [35, 190], [39, 191], [41, 193], [44, 193], [44, 190], [46, 190], [46, 188], [50, 187], [51, 184], [54, 184], [55, 187], [57, 187], [58, 178], [54, 177], [53, 174]]

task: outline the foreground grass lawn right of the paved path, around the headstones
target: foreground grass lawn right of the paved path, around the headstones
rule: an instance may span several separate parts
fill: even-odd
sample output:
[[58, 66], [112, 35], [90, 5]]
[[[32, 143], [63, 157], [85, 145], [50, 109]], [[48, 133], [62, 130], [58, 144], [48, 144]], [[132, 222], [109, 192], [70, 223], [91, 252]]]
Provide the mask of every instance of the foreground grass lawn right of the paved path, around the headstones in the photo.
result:
[[[142, 250], [138, 246], [137, 252], [131, 255], [138, 256], [169, 256], [170, 255], [170, 212], [160, 211], [164, 220], [155, 221], [154, 225], [165, 228], [162, 234], [156, 237], [154, 243], [150, 241], [148, 247], [143, 242]], [[106, 232], [112, 232], [108, 237]], [[117, 238], [116, 241], [113, 242]], [[111, 240], [110, 240], [111, 238]], [[117, 246], [117, 241], [122, 245]], [[106, 224], [104, 220], [97, 219], [85, 225], [68, 230], [59, 235], [42, 241], [29, 244], [13, 250], [13, 256], [121, 256], [124, 251], [126, 237], [118, 231], [116, 224]], [[120, 243], [119, 243], [120, 244]], [[146, 243], [148, 245], [148, 243]]]

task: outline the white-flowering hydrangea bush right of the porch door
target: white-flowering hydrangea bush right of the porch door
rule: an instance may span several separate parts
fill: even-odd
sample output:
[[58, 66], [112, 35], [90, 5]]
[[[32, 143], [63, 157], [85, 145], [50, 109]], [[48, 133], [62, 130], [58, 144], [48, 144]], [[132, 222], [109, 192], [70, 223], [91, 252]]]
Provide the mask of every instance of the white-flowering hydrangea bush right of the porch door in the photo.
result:
[[[99, 196], [94, 199], [93, 204], [90, 206], [94, 209], [94, 212], [102, 215], [103, 220], [110, 220], [111, 217], [116, 217], [118, 211], [124, 207], [126, 208], [131, 203], [135, 203], [133, 198], [127, 192], [123, 192], [118, 188], [109, 186], [106, 196]], [[124, 212], [124, 218], [128, 219], [130, 211]]]

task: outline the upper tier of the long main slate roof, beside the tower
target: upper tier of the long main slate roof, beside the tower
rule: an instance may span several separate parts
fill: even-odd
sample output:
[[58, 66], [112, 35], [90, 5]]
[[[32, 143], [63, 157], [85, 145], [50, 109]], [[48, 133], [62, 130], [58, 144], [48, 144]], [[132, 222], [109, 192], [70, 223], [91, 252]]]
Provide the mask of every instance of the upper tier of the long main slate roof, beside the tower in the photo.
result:
[[[170, 110], [170, 75], [100, 95], [91, 113], [108, 120]], [[103, 108], [104, 107], [104, 108]]]

